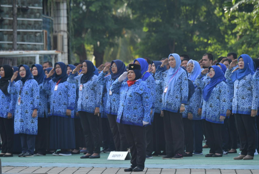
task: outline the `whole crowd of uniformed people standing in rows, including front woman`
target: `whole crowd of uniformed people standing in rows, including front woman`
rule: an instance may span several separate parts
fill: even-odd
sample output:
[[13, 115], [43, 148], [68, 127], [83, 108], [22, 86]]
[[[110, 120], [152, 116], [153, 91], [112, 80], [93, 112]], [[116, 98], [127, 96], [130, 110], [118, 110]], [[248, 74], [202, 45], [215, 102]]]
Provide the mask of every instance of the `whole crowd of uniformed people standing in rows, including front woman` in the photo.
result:
[[[170, 54], [151, 61], [121, 60], [98, 69], [85, 60], [32, 67], [0, 66], [2, 157], [100, 158], [101, 152], [130, 151], [131, 166], [146, 159], [203, 155], [251, 160], [257, 153], [259, 59], [247, 54], [198, 62]], [[204, 137], [206, 145], [203, 146]], [[101, 150], [101, 146], [103, 149]]]

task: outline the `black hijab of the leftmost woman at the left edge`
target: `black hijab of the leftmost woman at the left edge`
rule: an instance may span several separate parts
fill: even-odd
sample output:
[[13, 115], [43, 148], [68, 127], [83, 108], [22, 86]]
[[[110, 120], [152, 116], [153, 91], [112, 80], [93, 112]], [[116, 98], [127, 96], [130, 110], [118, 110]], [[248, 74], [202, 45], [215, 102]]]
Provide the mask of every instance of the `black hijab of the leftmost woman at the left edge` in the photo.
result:
[[4, 95], [7, 95], [8, 94], [7, 89], [8, 89], [9, 82], [13, 75], [13, 70], [12, 70], [12, 67], [7, 64], [0, 66], [0, 68], [1, 67], [3, 67], [3, 69], [4, 69], [4, 77], [2, 77], [0, 79], [0, 89], [2, 90]]

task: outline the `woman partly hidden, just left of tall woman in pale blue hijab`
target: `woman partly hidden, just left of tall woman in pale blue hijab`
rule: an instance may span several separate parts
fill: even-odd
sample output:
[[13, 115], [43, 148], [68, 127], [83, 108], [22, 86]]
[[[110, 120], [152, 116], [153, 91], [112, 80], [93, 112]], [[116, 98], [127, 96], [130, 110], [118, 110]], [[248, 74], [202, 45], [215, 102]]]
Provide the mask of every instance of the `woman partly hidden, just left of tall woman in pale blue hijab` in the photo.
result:
[[[153, 133], [154, 133], [154, 153], [152, 156], [165, 156], [165, 137], [164, 137], [164, 118], [161, 116], [162, 109], [162, 94], [163, 94], [163, 81], [156, 77], [156, 69], [158, 65], [161, 65], [160, 61], [152, 61], [151, 73], [155, 78], [156, 83], [156, 100], [155, 100], [155, 109], [154, 109], [154, 122], [153, 122]], [[166, 71], [166, 66], [164, 66], [164, 71]], [[161, 151], [163, 151], [161, 153]]]

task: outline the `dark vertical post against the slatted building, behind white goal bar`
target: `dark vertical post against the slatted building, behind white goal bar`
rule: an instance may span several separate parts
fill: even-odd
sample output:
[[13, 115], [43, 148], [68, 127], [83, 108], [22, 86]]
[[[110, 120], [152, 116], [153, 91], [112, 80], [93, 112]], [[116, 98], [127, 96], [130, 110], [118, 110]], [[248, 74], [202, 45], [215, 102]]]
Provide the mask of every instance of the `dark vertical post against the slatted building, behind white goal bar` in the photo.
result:
[[[17, 0], [12, 1], [12, 49], [17, 50]], [[17, 65], [17, 58], [13, 58], [12, 65]]]

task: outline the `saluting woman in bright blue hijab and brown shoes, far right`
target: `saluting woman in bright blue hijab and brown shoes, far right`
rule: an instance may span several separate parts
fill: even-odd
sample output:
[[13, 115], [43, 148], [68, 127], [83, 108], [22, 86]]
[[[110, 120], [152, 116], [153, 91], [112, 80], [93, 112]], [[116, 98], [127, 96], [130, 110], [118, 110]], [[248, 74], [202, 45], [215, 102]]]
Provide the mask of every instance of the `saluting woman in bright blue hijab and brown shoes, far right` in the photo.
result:
[[[233, 70], [238, 60], [238, 67]], [[240, 138], [241, 155], [234, 160], [252, 160], [255, 153], [255, 117], [258, 106], [258, 81], [253, 78], [254, 63], [247, 54], [242, 54], [229, 65], [225, 77], [234, 83], [232, 113], [235, 115]]]

